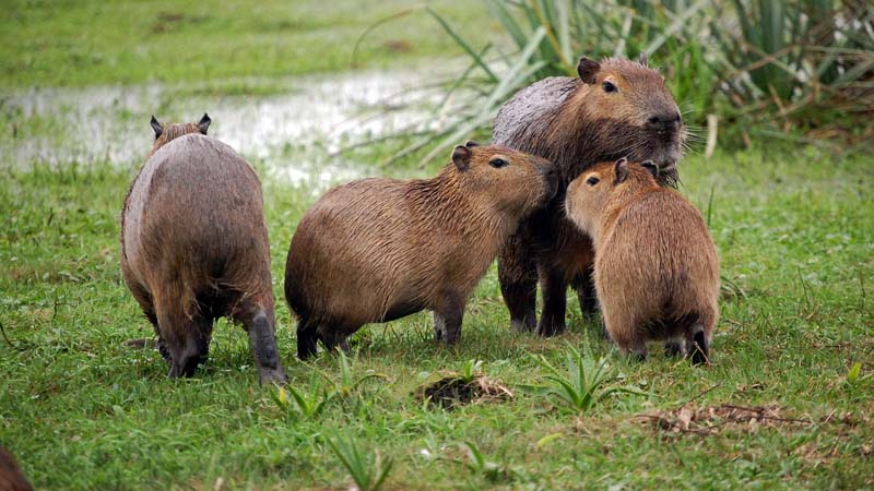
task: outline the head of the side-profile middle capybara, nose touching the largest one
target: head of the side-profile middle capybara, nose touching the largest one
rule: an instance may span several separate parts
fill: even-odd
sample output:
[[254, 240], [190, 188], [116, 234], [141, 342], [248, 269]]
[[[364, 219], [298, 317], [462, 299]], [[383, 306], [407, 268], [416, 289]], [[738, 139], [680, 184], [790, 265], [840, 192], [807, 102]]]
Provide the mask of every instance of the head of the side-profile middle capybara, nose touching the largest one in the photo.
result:
[[468, 142], [452, 151], [452, 164], [469, 195], [515, 217], [544, 205], [558, 187], [551, 161], [505, 146]]

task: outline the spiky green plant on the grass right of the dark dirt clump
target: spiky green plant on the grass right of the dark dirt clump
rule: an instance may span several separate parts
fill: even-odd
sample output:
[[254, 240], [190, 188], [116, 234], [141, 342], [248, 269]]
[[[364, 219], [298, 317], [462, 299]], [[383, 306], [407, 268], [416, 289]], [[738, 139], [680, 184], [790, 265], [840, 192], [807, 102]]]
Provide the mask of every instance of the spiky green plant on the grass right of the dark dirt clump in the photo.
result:
[[534, 361], [546, 371], [543, 375], [546, 384], [524, 388], [536, 394], [553, 396], [577, 412], [592, 409], [612, 394], [645, 395], [635, 388], [611, 385], [618, 380], [618, 376], [607, 359], [605, 357], [595, 359], [590, 352], [583, 355], [570, 345], [563, 368], [556, 368], [543, 355], [535, 356]]

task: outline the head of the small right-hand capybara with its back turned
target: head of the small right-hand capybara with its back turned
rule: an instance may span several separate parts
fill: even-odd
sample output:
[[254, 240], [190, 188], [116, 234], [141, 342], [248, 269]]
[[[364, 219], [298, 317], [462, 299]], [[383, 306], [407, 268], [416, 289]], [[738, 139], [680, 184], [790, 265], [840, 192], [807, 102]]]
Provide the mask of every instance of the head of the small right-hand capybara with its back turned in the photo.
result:
[[595, 235], [607, 202], [641, 189], [658, 187], [659, 167], [652, 160], [631, 164], [627, 158], [603, 161], [570, 182], [565, 197], [567, 217], [579, 228]]

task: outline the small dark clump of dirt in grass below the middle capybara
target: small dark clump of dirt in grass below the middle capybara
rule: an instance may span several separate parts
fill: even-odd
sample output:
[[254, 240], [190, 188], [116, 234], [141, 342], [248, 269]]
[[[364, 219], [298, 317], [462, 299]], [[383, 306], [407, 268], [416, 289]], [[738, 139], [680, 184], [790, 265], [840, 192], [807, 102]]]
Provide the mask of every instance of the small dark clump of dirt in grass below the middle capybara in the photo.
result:
[[513, 398], [509, 388], [485, 375], [466, 380], [457, 374], [444, 376], [436, 382], [418, 387], [415, 396], [420, 402], [427, 400], [429, 406], [439, 406], [445, 409], [453, 409], [465, 404]]

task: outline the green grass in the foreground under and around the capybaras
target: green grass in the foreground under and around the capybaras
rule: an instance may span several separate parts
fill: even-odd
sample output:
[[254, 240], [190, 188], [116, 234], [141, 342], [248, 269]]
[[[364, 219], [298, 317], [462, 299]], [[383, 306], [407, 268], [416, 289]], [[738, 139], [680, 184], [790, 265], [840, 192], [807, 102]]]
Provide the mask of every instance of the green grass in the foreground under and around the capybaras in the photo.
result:
[[[296, 361], [280, 303], [292, 386], [312, 404], [323, 399], [318, 411], [259, 387], [246, 336], [224, 322], [191, 380], [167, 380], [156, 352], [123, 347], [151, 332], [118, 266], [132, 170], [58, 169], [0, 171], [0, 323], [9, 337], [0, 339], [0, 444], [38, 488], [339, 489], [352, 483], [347, 469], [375, 483], [389, 463], [387, 489], [874, 486], [866, 156], [835, 161], [806, 148], [684, 160], [683, 191], [709, 216], [722, 259], [712, 367], [660, 355], [625, 360], [576, 306], [558, 338], [511, 334], [493, 268], [459, 347], [436, 345], [429, 316], [415, 315], [361, 332], [346, 370], [338, 357]], [[264, 192], [281, 299], [290, 238], [317, 196], [273, 181]], [[642, 395], [616, 393], [577, 412], [520, 390], [548, 383], [532, 355], [562, 370], [568, 344], [607, 357], [616, 379], [602, 388]], [[472, 359], [515, 397], [453, 410], [416, 398], [442, 371], [471, 371]], [[860, 374], [848, 378], [857, 362]], [[355, 383], [368, 374], [380, 376]], [[720, 419], [720, 409], [708, 421], [713, 431], [684, 430], [701, 423], [684, 427], [680, 409], [707, 415], [727, 404], [773, 405], [786, 421]], [[674, 422], [653, 424], [659, 418]], [[341, 464], [352, 451], [357, 459]]]

